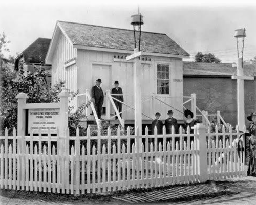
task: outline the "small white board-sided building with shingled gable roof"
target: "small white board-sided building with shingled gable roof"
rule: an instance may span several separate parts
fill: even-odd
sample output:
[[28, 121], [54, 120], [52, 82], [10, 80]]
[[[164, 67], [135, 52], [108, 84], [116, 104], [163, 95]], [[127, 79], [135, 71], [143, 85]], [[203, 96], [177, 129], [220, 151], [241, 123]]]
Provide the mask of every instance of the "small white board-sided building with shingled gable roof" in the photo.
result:
[[[137, 39], [137, 47], [138, 42]], [[98, 78], [103, 91], [113, 88], [118, 80], [124, 103], [133, 107], [134, 63], [126, 62], [125, 57], [134, 52], [134, 44], [133, 30], [57, 21], [46, 56], [46, 63], [52, 65], [52, 84], [66, 81], [67, 88], [84, 93], [91, 90]], [[166, 34], [144, 31], [141, 50], [145, 54], [141, 58], [142, 101], [145, 99], [142, 119], [151, 120], [155, 112], [160, 112], [162, 119], [167, 118], [170, 109], [175, 118], [183, 119], [182, 58], [189, 58], [189, 54]], [[84, 100], [84, 96], [79, 96], [71, 103], [77, 107]], [[123, 105], [123, 110], [126, 108], [129, 107]], [[94, 116], [89, 115], [88, 119], [93, 120]], [[133, 121], [134, 110], [125, 111], [123, 119]]]

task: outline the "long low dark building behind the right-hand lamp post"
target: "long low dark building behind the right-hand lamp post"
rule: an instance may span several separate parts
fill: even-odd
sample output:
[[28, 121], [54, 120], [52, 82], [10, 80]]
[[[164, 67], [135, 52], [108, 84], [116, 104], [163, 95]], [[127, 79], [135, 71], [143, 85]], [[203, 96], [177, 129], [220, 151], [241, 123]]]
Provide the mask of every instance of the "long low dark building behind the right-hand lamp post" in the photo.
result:
[[[231, 63], [183, 62], [183, 95], [196, 94], [197, 106], [208, 113], [218, 110], [225, 121], [237, 125], [237, 67]], [[254, 80], [244, 81], [245, 116], [256, 111], [256, 65], [245, 65], [244, 74]], [[245, 123], [249, 121], [245, 118]]]

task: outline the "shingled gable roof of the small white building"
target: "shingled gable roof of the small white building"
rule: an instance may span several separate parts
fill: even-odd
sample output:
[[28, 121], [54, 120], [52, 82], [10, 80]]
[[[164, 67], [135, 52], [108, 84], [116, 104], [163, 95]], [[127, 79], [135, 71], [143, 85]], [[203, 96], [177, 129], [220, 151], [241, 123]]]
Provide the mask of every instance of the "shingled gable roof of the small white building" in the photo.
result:
[[[90, 47], [134, 50], [134, 31], [102, 27], [74, 22], [58, 21], [68, 38], [75, 45]], [[143, 30], [143, 27], [142, 27]], [[136, 33], [136, 35], [138, 32]], [[138, 36], [138, 35], [137, 35]], [[139, 40], [137, 39], [137, 47]], [[166, 34], [141, 32], [141, 50], [144, 52], [164, 53], [174, 55], [189, 54]]]

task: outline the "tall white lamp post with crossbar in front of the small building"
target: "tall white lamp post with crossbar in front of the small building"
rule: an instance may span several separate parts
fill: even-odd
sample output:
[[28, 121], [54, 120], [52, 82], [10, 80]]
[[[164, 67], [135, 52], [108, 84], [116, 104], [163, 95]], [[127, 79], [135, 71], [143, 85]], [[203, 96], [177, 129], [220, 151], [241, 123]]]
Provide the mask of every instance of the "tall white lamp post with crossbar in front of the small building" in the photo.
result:
[[[143, 16], [139, 13], [132, 15], [131, 25], [134, 28], [134, 54], [127, 56], [126, 61], [134, 59], [134, 120], [135, 120], [135, 134], [142, 134], [142, 115], [141, 115], [141, 62], [140, 57], [143, 55], [143, 52], [140, 51], [140, 39], [141, 39], [141, 26], [144, 24]], [[136, 31], [137, 29], [137, 31]], [[136, 42], [136, 33], [139, 33], [139, 45], [137, 47]], [[137, 133], [137, 128], [139, 128], [139, 133]], [[139, 142], [139, 145], [141, 142]]]

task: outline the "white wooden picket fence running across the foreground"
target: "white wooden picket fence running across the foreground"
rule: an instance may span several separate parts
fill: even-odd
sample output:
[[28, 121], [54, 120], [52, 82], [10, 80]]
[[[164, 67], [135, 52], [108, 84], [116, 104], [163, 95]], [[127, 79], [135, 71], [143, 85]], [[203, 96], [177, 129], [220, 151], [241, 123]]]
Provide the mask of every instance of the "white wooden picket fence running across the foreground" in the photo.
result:
[[87, 136], [77, 130], [76, 137], [68, 130], [66, 136], [16, 136], [15, 129], [8, 136], [6, 129], [0, 188], [79, 195], [246, 176], [244, 153], [233, 143], [240, 133], [206, 134], [198, 125], [194, 134], [167, 135], [164, 129], [163, 135], [148, 135], [146, 129], [140, 136], [129, 128], [125, 136], [120, 129], [111, 136], [110, 128], [108, 136], [100, 130], [91, 136], [89, 127]]

